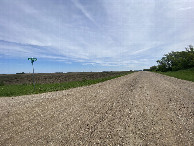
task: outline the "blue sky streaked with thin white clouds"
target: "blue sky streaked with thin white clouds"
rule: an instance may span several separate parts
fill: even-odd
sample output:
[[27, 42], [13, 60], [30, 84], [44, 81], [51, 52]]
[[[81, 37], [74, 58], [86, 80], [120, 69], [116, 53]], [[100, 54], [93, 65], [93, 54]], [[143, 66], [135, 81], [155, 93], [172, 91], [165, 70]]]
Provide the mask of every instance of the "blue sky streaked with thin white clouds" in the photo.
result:
[[194, 43], [194, 0], [0, 0], [0, 73], [134, 70]]

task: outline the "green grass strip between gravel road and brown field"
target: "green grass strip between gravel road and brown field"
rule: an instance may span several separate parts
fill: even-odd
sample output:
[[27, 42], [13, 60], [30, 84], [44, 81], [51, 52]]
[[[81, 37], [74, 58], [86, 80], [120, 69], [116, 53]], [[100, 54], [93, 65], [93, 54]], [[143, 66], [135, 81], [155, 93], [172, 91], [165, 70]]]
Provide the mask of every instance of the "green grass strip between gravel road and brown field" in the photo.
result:
[[39, 93], [45, 93], [45, 92], [66, 90], [70, 88], [87, 86], [87, 85], [96, 84], [99, 82], [104, 82], [127, 74], [130, 74], [130, 73], [124, 73], [122, 75], [100, 78], [100, 79], [93, 79], [93, 80], [73, 81], [73, 82], [65, 82], [65, 83], [52, 83], [52, 84], [36, 84], [35, 90], [33, 85], [31, 84], [1, 85], [0, 97], [21, 96], [21, 95], [39, 94]]

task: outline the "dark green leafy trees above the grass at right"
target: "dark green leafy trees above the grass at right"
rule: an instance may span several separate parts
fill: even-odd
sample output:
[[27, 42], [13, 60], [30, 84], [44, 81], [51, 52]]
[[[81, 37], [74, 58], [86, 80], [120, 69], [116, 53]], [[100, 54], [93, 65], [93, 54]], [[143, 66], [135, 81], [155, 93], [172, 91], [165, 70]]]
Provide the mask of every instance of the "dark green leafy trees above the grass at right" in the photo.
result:
[[151, 66], [150, 69], [144, 71], [178, 71], [194, 67], [194, 48], [189, 45], [185, 51], [170, 52], [165, 54], [162, 59], [157, 60], [157, 66]]

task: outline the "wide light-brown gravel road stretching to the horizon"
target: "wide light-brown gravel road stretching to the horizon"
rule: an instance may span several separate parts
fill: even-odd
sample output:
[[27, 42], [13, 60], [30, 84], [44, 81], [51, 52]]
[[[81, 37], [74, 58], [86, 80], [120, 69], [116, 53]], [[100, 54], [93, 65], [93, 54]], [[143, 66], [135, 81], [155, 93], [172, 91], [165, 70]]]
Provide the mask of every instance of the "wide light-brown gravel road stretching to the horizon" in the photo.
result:
[[194, 145], [194, 82], [136, 72], [0, 98], [0, 145]]

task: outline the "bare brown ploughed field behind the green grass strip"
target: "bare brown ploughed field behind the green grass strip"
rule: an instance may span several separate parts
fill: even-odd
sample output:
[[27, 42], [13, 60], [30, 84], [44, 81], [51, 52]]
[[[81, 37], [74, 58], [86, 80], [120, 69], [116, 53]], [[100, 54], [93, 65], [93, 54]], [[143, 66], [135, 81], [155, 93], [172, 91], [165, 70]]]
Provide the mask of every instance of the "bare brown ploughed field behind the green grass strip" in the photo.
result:
[[[93, 80], [113, 77], [129, 73], [121, 72], [71, 72], [71, 73], [36, 73], [35, 81], [38, 84], [64, 83], [72, 81]], [[31, 84], [32, 74], [0, 74], [0, 83], [4, 85]]]

